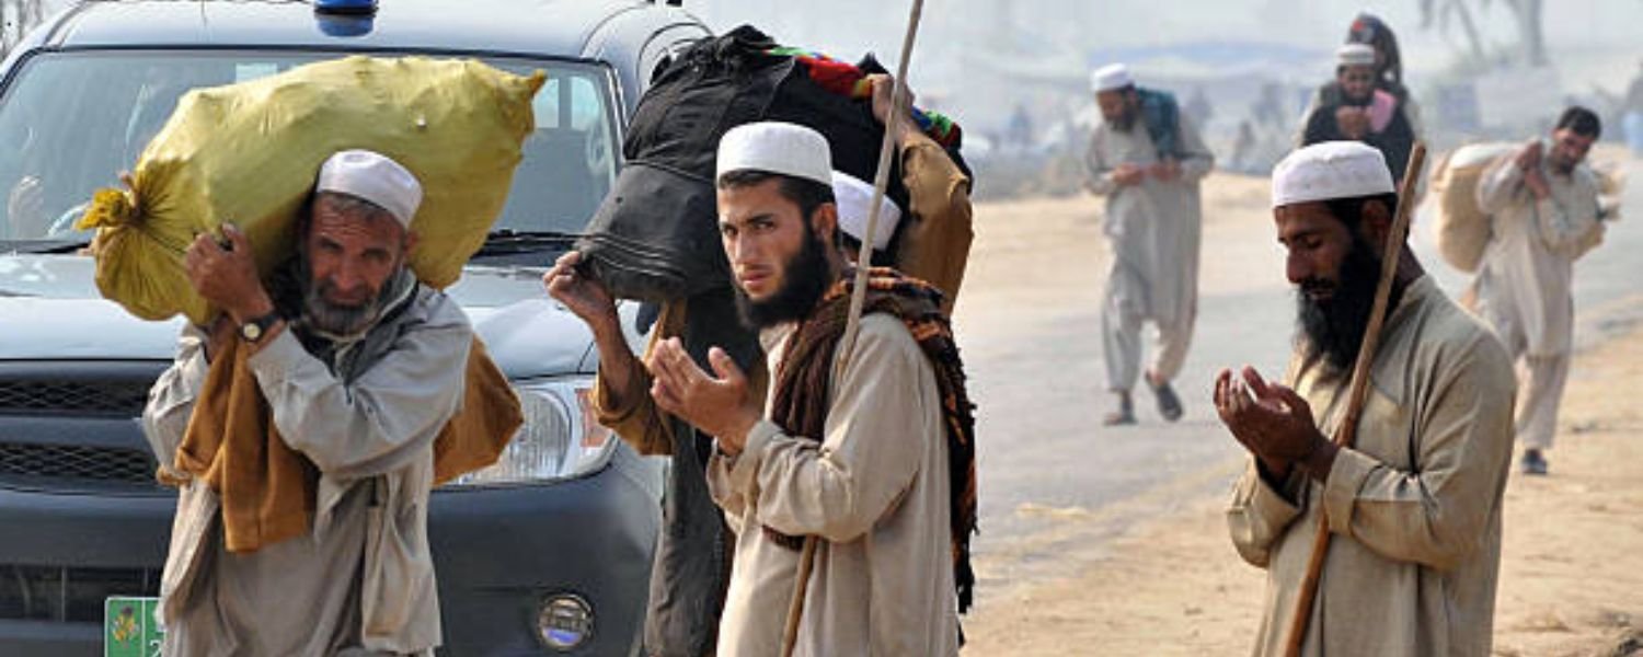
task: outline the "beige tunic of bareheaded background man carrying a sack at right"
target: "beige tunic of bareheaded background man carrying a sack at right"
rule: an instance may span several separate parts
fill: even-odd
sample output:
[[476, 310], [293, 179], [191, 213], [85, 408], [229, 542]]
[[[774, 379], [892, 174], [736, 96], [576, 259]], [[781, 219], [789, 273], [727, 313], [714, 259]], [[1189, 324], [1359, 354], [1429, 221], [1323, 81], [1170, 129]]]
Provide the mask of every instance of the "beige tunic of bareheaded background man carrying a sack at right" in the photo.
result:
[[1477, 186], [1479, 209], [1493, 217], [1477, 310], [1513, 355], [1554, 356], [1574, 347], [1574, 260], [1604, 237], [1597, 174], [1585, 164], [1569, 176], [1543, 172], [1551, 187], [1544, 200], [1535, 200], [1510, 158]]

